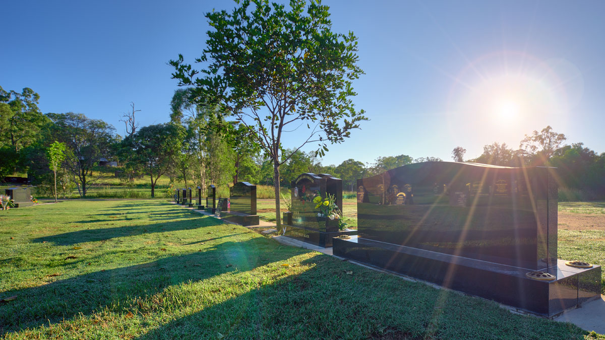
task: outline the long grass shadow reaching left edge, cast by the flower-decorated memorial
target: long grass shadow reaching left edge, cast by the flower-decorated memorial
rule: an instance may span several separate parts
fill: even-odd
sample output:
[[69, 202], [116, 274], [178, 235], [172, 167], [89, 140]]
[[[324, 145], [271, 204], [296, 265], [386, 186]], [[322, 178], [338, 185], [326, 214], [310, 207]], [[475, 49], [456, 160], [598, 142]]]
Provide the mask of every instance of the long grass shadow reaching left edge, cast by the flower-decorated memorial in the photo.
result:
[[[227, 241], [203, 252], [10, 290], [2, 295], [16, 295], [18, 299], [0, 305], [0, 335], [71, 319], [80, 313], [90, 315], [105, 307], [123, 312], [135, 299], [149, 298], [171, 286], [251, 270], [286, 260], [293, 254], [292, 251], [267, 253], [272, 249], [275, 244], [261, 237], [243, 242]], [[294, 255], [303, 252], [301, 249]]]

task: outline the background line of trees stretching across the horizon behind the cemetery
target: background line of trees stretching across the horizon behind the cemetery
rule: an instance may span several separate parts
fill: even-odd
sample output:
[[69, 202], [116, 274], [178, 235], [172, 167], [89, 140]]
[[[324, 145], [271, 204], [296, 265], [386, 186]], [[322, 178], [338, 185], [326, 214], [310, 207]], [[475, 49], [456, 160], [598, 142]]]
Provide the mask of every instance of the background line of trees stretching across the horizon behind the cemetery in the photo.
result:
[[[237, 121], [226, 121], [217, 106], [199, 105], [191, 98], [193, 91], [175, 91], [170, 121], [143, 126], [134, 125], [132, 112], [125, 115], [130, 125], [126, 136], [103, 120], [89, 119], [76, 113], [42, 114], [39, 95], [30, 88], [18, 93], [0, 87], [0, 175], [28, 174], [39, 193], [53, 195], [55, 171], [49, 166], [51, 145], [64, 145], [56, 170], [57, 193], [66, 195], [77, 189], [86, 197], [91, 186], [100, 180], [94, 171], [102, 159], [116, 160], [116, 174], [124, 181], [148, 178], [155, 194], [160, 177], [185, 186], [215, 185], [219, 188], [237, 181], [274, 185], [273, 162], [252, 142], [247, 129]], [[466, 162], [500, 166], [555, 166], [560, 188], [576, 192], [579, 199], [604, 198], [605, 152], [586, 148], [583, 143], [567, 145], [564, 134], [551, 126], [534, 131], [520, 141], [518, 149], [494, 142], [483, 153]], [[453, 160], [465, 160], [461, 146], [452, 151]], [[316, 152], [285, 149], [289, 157], [281, 164], [280, 185], [302, 172], [329, 173], [342, 178], [343, 187], [355, 191], [356, 180], [417, 162], [440, 160], [435, 157], [413, 159], [409, 155], [381, 156], [373, 163], [347, 159], [339, 165], [322, 165]], [[563, 197], [565, 198], [565, 197]], [[572, 197], [571, 197], [572, 198]]]

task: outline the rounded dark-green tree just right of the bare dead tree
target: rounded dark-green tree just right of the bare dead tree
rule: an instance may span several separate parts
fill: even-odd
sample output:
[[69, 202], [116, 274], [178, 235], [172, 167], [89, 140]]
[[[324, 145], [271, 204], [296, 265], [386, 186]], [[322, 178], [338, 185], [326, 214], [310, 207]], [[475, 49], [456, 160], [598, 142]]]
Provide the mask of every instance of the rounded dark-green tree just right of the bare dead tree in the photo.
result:
[[121, 154], [128, 166], [149, 176], [151, 197], [155, 197], [157, 180], [175, 162], [183, 134], [181, 126], [164, 123], [144, 126], [122, 141]]

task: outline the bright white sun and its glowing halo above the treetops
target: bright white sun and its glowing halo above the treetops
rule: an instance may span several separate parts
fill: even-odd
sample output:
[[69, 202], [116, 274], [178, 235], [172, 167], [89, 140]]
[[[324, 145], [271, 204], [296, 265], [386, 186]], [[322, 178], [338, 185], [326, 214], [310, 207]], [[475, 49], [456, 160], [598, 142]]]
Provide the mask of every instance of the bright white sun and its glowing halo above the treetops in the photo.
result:
[[[499, 51], [469, 62], [453, 77], [448, 96], [453, 133], [517, 140], [524, 133], [564, 120], [581, 98], [583, 77], [563, 59], [540, 60]], [[462, 124], [462, 125], [461, 125]]]

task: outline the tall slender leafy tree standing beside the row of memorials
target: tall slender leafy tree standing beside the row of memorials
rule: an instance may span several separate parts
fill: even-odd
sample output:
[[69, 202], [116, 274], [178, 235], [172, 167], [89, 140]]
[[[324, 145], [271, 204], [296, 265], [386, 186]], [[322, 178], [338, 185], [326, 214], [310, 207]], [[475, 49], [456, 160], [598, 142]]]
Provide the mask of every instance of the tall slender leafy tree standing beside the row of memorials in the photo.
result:
[[[291, 0], [290, 10], [268, 0], [238, 2], [232, 13], [206, 13], [208, 31], [204, 54], [208, 62], [198, 71], [171, 60], [172, 77], [179, 85], [194, 85], [200, 104], [218, 105], [220, 113], [235, 116], [273, 162], [276, 222], [280, 218], [280, 165], [283, 134], [296, 131], [302, 142], [318, 142], [324, 155], [329, 143], [341, 143], [366, 120], [356, 111], [352, 80], [363, 73], [353, 33], [333, 33], [329, 7], [321, 2]], [[252, 4], [252, 5], [251, 5]], [[306, 14], [304, 13], [306, 10]]]

